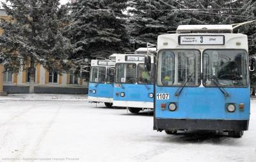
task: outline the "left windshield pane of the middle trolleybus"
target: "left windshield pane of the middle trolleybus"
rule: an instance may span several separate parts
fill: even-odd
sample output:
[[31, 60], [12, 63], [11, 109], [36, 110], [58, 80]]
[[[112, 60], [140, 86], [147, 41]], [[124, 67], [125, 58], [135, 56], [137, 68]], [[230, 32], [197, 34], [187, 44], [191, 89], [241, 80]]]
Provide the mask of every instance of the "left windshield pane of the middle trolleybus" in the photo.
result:
[[136, 83], [136, 64], [116, 64], [117, 83]]

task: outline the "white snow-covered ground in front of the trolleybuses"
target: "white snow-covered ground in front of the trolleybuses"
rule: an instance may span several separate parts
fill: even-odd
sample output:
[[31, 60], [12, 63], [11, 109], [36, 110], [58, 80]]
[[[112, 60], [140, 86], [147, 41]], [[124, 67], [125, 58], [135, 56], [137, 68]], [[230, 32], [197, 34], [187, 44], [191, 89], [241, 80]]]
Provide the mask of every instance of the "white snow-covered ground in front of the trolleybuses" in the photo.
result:
[[243, 138], [166, 135], [152, 127], [152, 112], [132, 115], [87, 101], [2, 100], [0, 161], [256, 161], [255, 100]]

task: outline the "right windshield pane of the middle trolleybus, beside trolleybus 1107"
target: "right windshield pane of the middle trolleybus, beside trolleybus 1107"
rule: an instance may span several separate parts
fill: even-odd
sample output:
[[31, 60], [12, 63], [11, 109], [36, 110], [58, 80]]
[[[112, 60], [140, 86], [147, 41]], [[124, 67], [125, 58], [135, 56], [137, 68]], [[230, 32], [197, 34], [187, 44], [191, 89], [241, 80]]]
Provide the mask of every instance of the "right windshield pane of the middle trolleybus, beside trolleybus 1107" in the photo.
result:
[[151, 71], [145, 71], [145, 64], [138, 64], [138, 84], [154, 84], [154, 64]]

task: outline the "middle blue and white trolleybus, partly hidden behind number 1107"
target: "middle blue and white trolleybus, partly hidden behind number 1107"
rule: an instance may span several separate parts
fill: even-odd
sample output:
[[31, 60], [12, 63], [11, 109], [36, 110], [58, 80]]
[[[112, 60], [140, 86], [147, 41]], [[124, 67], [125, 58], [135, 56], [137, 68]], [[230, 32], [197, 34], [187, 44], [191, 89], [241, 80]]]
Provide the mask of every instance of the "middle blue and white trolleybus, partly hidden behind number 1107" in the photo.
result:
[[135, 54], [116, 55], [114, 107], [127, 107], [132, 113], [154, 108], [154, 70], [145, 70], [144, 64], [146, 55], [154, 60], [154, 53], [156, 48], [139, 48]]

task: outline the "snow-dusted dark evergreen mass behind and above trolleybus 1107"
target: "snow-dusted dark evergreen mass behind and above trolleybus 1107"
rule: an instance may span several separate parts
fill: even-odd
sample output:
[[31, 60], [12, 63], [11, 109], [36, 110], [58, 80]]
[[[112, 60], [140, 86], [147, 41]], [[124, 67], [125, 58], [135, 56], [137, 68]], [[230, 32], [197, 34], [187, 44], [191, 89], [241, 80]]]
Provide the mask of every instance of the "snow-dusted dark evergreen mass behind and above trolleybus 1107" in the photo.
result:
[[[255, 5], [253, 0], [132, 0], [129, 34], [138, 46], [145, 47], [145, 43], [156, 43], [159, 34], [175, 31], [179, 25], [236, 24], [255, 20]], [[255, 31], [255, 23], [234, 31], [255, 39], [250, 41], [250, 54], [256, 53]]]

